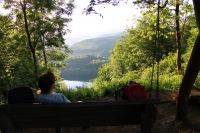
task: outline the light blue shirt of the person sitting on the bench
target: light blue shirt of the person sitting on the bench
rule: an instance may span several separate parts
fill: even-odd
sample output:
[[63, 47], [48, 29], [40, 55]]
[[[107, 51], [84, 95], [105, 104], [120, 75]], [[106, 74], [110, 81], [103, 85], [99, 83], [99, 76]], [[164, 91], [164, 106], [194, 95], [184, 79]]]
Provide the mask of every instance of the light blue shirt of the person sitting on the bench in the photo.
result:
[[36, 94], [35, 101], [38, 103], [70, 103], [70, 101], [61, 93]]

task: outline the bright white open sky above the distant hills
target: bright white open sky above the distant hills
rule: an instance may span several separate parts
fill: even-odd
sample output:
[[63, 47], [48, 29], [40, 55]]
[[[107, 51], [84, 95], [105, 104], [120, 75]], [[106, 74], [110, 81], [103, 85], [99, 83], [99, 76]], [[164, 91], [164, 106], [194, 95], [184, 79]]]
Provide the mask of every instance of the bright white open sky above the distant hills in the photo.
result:
[[72, 22], [69, 23], [71, 33], [68, 33], [66, 38], [125, 31], [127, 26], [133, 26], [131, 19], [140, 14], [130, 0], [128, 4], [121, 2], [118, 6], [104, 5], [95, 7], [96, 11], [103, 15], [103, 18], [98, 14], [83, 14], [83, 9], [87, 7], [89, 1], [75, 0], [76, 8], [71, 16]]

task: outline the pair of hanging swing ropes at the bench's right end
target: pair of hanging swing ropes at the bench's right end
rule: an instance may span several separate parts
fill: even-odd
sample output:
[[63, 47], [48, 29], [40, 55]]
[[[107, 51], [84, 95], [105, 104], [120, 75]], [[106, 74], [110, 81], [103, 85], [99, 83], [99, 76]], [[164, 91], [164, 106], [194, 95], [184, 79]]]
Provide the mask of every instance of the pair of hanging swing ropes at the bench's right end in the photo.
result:
[[151, 73], [151, 88], [149, 93], [149, 99], [151, 99], [151, 92], [153, 86], [153, 78], [154, 78], [154, 67], [156, 59], [156, 99], [159, 96], [159, 60], [160, 60], [160, 9], [166, 7], [168, 0], [165, 1], [163, 6], [160, 6], [160, 0], [158, 0], [158, 7], [157, 7], [157, 22], [156, 22], [156, 29], [155, 29], [155, 42], [154, 42], [154, 55], [153, 55], [153, 64], [152, 64], [152, 73]]

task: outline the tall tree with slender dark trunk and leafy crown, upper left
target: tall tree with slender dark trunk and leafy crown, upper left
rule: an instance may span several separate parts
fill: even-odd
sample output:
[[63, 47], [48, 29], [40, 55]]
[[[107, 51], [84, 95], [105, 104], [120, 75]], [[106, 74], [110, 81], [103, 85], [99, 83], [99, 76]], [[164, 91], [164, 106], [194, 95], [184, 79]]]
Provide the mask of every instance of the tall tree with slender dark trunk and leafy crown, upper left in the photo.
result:
[[[44, 46], [44, 42], [50, 47], [64, 45], [63, 34], [68, 32], [66, 26], [71, 21], [68, 16], [72, 15], [74, 9], [73, 0], [70, 0], [69, 3], [65, 3], [63, 0], [5, 0], [4, 7], [12, 11], [20, 34], [26, 35], [23, 43], [29, 46], [32, 54], [35, 81], [37, 81], [38, 47]], [[45, 48], [46, 46], [43, 47], [43, 51]], [[44, 58], [46, 59], [46, 57]]]

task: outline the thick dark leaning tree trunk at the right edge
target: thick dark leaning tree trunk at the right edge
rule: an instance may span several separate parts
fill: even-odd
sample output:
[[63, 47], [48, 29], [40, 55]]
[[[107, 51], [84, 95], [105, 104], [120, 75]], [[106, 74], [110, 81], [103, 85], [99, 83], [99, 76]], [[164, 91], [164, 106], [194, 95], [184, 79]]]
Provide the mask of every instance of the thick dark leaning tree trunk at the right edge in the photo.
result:
[[[193, 0], [196, 22], [200, 29], [200, 1]], [[195, 41], [192, 54], [190, 56], [185, 75], [179, 89], [179, 96], [176, 107], [176, 120], [185, 122], [187, 120], [188, 97], [200, 70], [200, 35], [198, 34]]]

